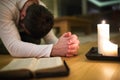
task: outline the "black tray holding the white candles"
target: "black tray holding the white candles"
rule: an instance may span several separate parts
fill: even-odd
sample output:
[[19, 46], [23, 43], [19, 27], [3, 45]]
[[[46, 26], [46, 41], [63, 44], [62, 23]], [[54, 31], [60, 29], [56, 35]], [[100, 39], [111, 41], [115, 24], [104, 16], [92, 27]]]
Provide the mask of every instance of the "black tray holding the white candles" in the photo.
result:
[[120, 48], [118, 48], [118, 56], [103, 56], [98, 53], [97, 47], [92, 47], [85, 56], [90, 60], [120, 61]]

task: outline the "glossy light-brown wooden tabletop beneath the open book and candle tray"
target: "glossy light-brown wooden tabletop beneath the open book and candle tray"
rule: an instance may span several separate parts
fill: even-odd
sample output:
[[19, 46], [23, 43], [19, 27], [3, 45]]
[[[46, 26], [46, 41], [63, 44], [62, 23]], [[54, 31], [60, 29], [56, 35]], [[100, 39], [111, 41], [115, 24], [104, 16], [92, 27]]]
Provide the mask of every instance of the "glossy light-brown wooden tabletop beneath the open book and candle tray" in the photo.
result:
[[[97, 47], [97, 42], [81, 44], [78, 56], [63, 57], [70, 68], [69, 76], [32, 80], [120, 80], [120, 62], [88, 60], [85, 54], [91, 47]], [[10, 55], [0, 54], [0, 68], [12, 59]]]

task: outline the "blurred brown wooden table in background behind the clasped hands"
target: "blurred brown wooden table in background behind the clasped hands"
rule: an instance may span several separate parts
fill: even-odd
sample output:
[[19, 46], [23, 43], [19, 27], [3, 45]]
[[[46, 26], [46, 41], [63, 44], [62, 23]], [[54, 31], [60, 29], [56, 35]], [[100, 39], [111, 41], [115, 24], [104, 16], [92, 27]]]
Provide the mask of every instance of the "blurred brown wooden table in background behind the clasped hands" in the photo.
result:
[[71, 27], [82, 27], [85, 34], [91, 33], [91, 21], [77, 17], [58, 17], [55, 18], [54, 27], [60, 28], [60, 34], [71, 31]]

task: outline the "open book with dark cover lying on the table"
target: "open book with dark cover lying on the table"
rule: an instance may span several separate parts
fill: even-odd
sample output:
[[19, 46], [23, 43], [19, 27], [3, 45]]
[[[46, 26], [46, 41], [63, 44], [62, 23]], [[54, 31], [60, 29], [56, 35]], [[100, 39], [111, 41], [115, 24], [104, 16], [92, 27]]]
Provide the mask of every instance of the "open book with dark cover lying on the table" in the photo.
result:
[[67, 76], [69, 68], [61, 57], [18, 58], [0, 69], [0, 79], [28, 79]]

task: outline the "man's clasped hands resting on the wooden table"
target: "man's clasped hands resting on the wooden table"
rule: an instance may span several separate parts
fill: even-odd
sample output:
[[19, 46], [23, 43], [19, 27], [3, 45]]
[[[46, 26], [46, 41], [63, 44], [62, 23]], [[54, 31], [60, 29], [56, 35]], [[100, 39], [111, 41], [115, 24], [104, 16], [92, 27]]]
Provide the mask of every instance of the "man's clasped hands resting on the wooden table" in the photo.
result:
[[56, 44], [53, 45], [51, 56], [72, 57], [78, 54], [80, 41], [71, 32], [64, 33]]

